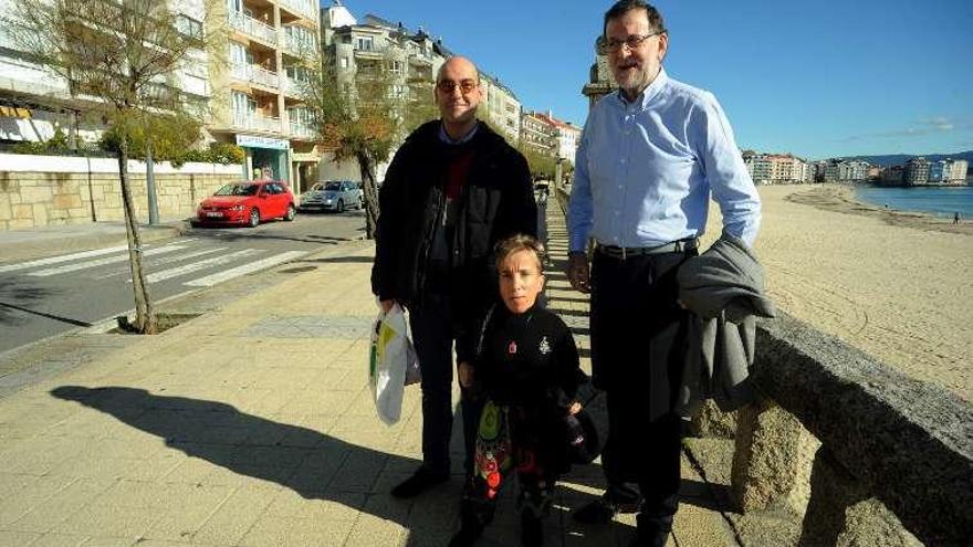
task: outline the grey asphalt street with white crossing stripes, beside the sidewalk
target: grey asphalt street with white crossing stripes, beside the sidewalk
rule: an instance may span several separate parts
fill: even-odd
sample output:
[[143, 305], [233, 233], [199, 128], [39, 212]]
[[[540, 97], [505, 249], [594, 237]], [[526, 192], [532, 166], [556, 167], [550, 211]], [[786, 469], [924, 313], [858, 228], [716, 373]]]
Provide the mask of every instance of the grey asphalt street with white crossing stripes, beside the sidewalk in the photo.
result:
[[[294, 222], [193, 228], [144, 245], [154, 302], [254, 274], [364, 233], [364, 212], [302, 213]], [[0, 353], [135, 307], [125, 245], [0, 263]]]

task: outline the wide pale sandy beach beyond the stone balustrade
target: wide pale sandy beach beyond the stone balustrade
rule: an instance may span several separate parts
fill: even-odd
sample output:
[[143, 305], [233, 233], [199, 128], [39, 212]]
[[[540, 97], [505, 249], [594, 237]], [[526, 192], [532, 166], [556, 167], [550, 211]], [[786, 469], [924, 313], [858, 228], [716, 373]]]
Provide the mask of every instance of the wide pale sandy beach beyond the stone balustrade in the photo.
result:
[[[755, 249], [780, 308], [973, 401], [973, 224], [858, 203], [836, 186], [760, 193]], [[716, 213], [707, 239], [719, 225]]]

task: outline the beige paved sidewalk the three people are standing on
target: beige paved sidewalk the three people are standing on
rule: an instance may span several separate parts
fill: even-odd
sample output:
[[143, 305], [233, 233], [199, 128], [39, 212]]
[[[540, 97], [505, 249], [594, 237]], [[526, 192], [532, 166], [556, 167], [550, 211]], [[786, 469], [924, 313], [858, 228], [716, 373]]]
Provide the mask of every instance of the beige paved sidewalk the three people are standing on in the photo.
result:
[[[586, 302], [559, 273], [551, 204], [548, 302], [587, 361]], [[415, 501], [388, 494], [419, 463], [421, 420], [417, 387], [390, 428], [368, 395], [372, 256], [352, 242], [291, 263], [281, 283], [0, 399], [0, 546], [444, 546], [459, 475]], [[735, 545], [683, 469], [670, 545]], [[565, 477], [545, 545], [626, 544], [631, 517], [569, 519], [601, 484], [597, 464]], [[506, 494], [479, 545], [519, 544]]]

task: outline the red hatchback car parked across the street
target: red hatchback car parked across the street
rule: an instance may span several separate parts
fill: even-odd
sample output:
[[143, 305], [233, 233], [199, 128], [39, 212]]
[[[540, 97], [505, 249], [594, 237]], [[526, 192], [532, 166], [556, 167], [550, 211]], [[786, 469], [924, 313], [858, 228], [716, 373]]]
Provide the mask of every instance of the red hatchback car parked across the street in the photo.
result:
[[262, 220], [294, 220], [294, 194], [280, 180], [250, 180], [227, 185], [202, 200], [196, 210], [199, 224], [245, 224]]

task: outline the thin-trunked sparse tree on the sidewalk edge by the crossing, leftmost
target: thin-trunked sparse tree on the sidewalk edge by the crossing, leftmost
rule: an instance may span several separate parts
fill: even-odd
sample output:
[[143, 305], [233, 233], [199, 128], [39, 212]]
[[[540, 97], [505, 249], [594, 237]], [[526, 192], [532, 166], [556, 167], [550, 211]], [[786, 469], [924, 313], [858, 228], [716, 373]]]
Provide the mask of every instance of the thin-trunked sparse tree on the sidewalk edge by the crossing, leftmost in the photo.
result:
[[[208, 0], [207, 0], [208, 1]], [[180, 70], [208, 40], [165, 0], [12, 0], [3, 23], [14, 44], [34, 62], [63, 77], [75, 97], [101, 108], [118, 136], [118, 172], [128, 236], [134, 327], [145, 334], [157, 322], [143, 267], [142, 239], [128, 177], [130, 135], [159, 113], [187, 106], [178, 87]], [[207, 6], [203, 6], [207, 8]], [[144, 135], [145, 132], [143, 130]], [[150, 154], [151, 139], [147, 143]]]

